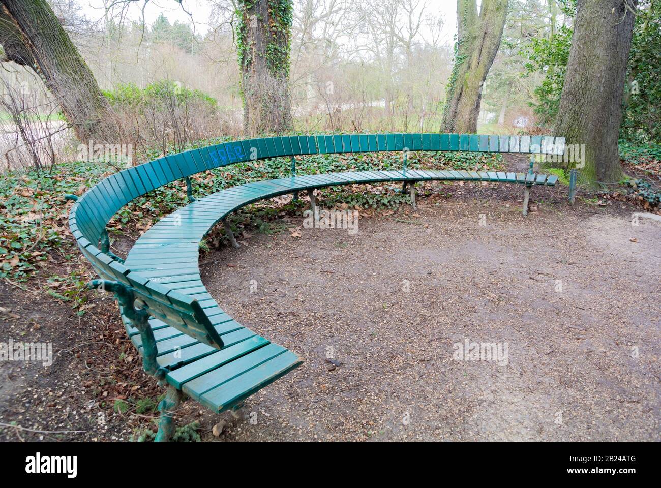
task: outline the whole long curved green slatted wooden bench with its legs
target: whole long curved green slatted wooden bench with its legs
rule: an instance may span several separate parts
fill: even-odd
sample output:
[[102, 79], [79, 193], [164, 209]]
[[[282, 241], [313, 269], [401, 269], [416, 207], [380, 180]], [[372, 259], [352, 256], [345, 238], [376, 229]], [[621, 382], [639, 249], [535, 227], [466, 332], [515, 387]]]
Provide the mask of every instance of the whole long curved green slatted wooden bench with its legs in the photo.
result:
[[[295, 175], [296, 155], [373, 151], [405, 151], [396, 171], [358, 171], [325, 175]], [[533, 157], [527, 173], [421, 171], [407, 169], [407, 151], [481, 151], [562, 153], [564, 138], [549, 136], [479, 136], [473, 134], [358, 134], [283, 136], [227, 142], [120, 171], [97, 183], [76, 200], [69, 227], [83, 255], [100, 279], [89, 286], [115, 294], [122, 321], [143, 359], [143, 368], [167, 386], [159, 404], [157, 441], [173, 434], [173, 411], [184, 396], [220, 413], [239, 409], [243, 401], [301, 364], [286, 348], [244, 327], [208, 293], [200, 278], [200, 241], [223, 222], [232, 245], [238, 247], [227, 220], [235, 210], [266, 198], [353, 183], [402, 182], [410, 188], [420, 181], [491, 181], [522, 184], [527, 196], [533, 185], [557, 182], [535, 175]], [[190, 175], [223, 165], [292, 157], [292, 177], [247, 183], [195, 199]], [[161, 219], [145, 232], [126, 260], [110, 251], [106, 224], [138, 196], [180, 179], [186, 180], [190, 203]]]

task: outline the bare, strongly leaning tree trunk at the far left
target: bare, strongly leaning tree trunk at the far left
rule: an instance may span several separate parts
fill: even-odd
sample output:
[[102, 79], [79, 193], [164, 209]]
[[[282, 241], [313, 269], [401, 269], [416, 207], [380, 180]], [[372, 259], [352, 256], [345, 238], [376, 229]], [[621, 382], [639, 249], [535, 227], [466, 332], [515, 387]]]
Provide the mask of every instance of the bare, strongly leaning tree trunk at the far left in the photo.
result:
[[34, 69], [82, 142], [116, 138], [108, 101], [46, 0], [0, 0], [3, 58]]

